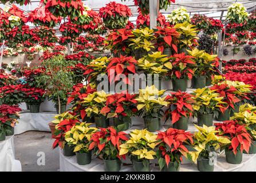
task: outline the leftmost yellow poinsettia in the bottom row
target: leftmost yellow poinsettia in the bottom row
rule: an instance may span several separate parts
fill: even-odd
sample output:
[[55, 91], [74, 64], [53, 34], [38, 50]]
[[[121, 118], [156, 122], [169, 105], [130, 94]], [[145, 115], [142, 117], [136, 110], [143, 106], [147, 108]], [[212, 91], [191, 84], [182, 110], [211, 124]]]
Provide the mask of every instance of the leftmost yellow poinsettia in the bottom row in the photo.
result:
[[90, 127], [90, 125], [92, 124], [81, 122], [65, 133], [65, 141], [69, 145], [74, 146], [74, 152], [89, 152], [90, 138], [98, 130], [97, 128]]

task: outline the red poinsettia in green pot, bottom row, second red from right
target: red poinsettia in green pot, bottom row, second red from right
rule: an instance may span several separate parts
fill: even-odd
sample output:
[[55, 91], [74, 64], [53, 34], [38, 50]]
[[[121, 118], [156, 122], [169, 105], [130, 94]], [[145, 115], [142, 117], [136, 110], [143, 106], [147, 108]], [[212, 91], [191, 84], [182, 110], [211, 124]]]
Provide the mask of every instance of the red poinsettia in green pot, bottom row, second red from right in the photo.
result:
[[163, 172], [179, 172], [182, 155], [188, 153], [187, 145], [193, 143], [192, 134], [178, 129], [167, 129], [159, 132], [156, 157]]

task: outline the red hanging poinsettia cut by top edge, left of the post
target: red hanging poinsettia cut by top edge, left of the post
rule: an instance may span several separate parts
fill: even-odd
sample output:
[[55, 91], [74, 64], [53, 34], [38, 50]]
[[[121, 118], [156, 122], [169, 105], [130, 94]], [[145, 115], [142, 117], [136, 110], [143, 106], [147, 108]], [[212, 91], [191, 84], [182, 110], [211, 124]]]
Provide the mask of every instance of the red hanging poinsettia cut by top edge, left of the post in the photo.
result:
[[55, 17], [69, 17], [71, 19], [79, 17], [84, 11], [84, 3], [81, 0], [41, 0]]

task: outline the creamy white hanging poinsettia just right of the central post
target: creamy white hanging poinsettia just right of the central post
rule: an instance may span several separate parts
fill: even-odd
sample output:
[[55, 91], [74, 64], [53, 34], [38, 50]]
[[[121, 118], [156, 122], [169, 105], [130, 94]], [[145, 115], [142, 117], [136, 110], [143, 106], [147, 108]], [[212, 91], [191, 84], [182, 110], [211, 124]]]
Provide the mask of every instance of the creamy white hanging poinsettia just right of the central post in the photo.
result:
[[167, 15], [167, 21], [172, 23], [172, 25], [190, 22], [190, 15], [184, 7], [179, 7]]

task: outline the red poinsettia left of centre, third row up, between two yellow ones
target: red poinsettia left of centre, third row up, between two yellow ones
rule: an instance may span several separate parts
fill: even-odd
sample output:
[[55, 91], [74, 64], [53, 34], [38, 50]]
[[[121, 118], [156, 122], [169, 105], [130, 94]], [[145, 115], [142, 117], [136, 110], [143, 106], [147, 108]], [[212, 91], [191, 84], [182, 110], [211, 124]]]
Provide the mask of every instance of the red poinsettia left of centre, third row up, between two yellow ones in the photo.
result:
[[[126, 57], [121, 55], [119, 57], [109, 59], [109, 64], [107, 66], [107, 73], [110, 83], [114, 83], [120, 80], [120, 75], [124, 74], [125, 78], [122, 78], [122, 81], [125, 84], [131, 85], [131, 81], [129, 81], [128, 74], [136, 73], [136, 59], [133, 57]], [[116, 74], [116, 76], [115, 76]]]

